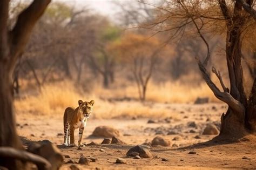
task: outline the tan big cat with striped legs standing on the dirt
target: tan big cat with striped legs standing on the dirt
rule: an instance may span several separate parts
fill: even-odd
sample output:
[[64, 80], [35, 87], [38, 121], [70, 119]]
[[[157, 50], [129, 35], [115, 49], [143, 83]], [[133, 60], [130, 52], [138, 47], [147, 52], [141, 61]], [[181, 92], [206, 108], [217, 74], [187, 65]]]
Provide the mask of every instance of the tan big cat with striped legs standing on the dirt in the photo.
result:
[[[78, 100], [78, 107], [75, 109], [73, 107], [68, 107], [65, 109], [63, 116], [63, 126], [64, 126], [64, 145], [75, 145], [74, 131], [79, 128], [79, 140], [78, 145], [82, 142], [82, 135], [84, 126], [86, 125], [87, 118], [91, 114], [94, 101], [83, 102]], [[69, 144], [70, 137], [70, 144]]]

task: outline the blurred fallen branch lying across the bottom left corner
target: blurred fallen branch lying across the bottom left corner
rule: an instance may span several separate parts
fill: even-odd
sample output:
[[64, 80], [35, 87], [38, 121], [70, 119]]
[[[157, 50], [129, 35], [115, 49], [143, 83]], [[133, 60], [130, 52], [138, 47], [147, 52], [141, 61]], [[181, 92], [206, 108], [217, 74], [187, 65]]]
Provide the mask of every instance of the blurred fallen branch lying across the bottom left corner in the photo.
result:
[[36, 164], [38, 169], [42, 170], [51, 168], [50, 162], [44, 159], [43, 157], [26, 151], [18, 150], [12, 147], [0, 147], [0, 157], [29, 161], [32, 162], [33, 164]]

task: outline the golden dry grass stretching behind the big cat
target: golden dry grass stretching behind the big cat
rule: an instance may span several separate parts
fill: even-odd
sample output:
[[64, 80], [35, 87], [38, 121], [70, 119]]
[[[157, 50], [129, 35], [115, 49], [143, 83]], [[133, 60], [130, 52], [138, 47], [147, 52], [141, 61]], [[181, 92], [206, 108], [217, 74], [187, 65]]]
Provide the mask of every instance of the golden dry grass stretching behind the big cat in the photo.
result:
[[180, 85], [179, 83], [165, 83], [162, 85], [149, 85], [147, 99], [151, 102], [140, 103], [132, 101], [114, 101], [109, 98], [137, 98], [135, 86], [127, 86], [119, 89], [105, 90], [95, 87], [93, 93], [80, 93], [69, 82], [45, 85], [42, 91], [36, 95], [26, 95], [22, 99], [15, 101], [17, 114], [48, 114], [63, 115], [66, 107], [77, 107], [79, 99], [96, 101], [94, 108], [95, 118], [114, 117], [167, 117], [170, 115], [170, 108], [166, 108], [161, 103], [192, 103], [198, 96], [209, 97], [214, 100], [212, 92], [205, 84], [196, 88]]

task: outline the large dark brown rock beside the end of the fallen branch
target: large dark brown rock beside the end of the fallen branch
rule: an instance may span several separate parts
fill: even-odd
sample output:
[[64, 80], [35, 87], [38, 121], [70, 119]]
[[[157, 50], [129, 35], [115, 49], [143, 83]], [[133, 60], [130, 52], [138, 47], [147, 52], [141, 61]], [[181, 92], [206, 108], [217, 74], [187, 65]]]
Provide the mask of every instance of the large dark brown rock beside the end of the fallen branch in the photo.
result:
[[51, 169], [59, 169], [64, 161], [59, 149], [49, 140], [43, 140], [29, 145], [28, 151], [48, 160], [52, 165]]

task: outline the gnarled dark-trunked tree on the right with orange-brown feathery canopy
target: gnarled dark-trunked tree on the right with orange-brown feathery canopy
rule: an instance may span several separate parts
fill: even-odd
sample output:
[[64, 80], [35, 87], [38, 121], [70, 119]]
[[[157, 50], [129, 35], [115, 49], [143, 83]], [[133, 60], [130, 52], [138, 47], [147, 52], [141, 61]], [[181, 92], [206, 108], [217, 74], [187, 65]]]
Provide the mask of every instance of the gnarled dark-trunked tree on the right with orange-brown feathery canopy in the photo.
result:
[[[253, 1], [165, 1], [163, 6], [156, 8], [159, 10], [157, 21], [147, 26], [147, 29], [155, 29], [158, 26], [155, 29], [157, 32], [168, 31], [172, 38], [180, 37], [186, 32], [196, 32], [205, 43], [207, 55], [204, 62], [196, 57], [199, 69], [214, 95], [228, 105], [227, 112], [221, 115], [220, 136], [241, 137], [254, 133], [256, 78], [254, 77], [250, 94], [246, 95], [241, 65], [242, 37], [248, 29], [255, 31], [256, 12]], [[194, 29], [188, 30], [187, 28], [191, 26], [187, 27], [187, 25], [193, 25]], [[226, 32], [226, 61], [230, 88], [224, 85], [220, 72], [212, 67], [212, 72], [219, 78], [223, 88], [221, 91], [213, 83], [206, 69], [211, 49], [204, 35], [206, 32], [222, 33], [223, 30]]]

